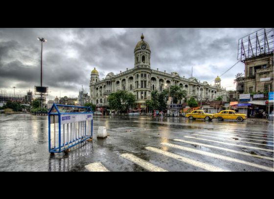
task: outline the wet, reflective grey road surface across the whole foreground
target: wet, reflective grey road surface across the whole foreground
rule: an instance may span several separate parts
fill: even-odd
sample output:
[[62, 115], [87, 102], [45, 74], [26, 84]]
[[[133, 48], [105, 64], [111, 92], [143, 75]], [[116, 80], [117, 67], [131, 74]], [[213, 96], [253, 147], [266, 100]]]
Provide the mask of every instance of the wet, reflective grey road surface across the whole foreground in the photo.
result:
[[0, 171], [273, 171], [273, 124], [259, 121], [94, 116], [91, 142], [51, 156], [46, 116], [0, 114]]

